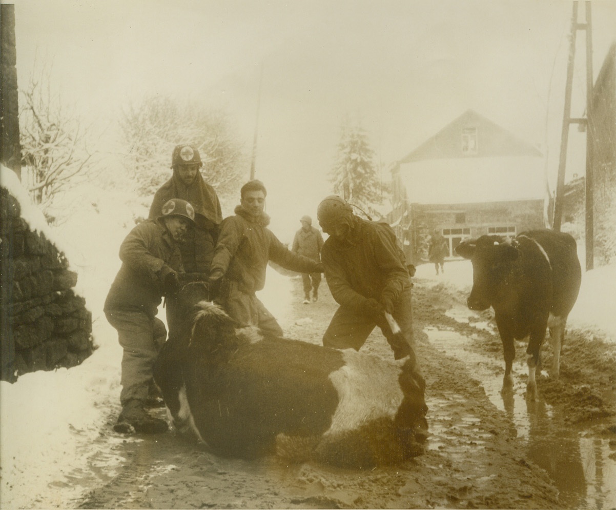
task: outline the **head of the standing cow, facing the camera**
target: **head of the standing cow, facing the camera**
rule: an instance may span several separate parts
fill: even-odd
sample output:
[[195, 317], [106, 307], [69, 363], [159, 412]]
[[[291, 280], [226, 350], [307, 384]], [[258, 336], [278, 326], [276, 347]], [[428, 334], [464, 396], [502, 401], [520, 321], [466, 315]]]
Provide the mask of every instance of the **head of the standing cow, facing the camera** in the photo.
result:
[[511, 264], [520, 253], [517, 242], [500, 236], [481, 236], [461, 242], [456, 253], [472, 262], [472, 290], [467, 304], [471, 310], [487, 310], [493, 304]]

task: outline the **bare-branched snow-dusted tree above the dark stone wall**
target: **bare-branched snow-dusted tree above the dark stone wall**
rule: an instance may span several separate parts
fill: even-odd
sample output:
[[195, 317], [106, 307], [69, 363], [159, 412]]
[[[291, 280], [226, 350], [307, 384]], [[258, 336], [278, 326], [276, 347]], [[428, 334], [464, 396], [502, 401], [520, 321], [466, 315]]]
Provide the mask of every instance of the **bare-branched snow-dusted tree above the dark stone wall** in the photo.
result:
[[22, 182], [50, 221], [54, 198], [90, 178], [95, 162], [87, 129], [52, 86], [51, 64], [36, 65], [19, 93]]

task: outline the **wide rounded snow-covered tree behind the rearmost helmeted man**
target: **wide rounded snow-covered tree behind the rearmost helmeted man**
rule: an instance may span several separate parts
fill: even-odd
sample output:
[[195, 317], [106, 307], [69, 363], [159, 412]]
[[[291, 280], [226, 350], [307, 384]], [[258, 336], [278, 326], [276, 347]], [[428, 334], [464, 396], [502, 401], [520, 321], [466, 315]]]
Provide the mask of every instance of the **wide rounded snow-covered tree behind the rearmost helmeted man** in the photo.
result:
[[243, 145], [223, 110], [194, 101], [154, 96], [124, 110], [124, 164], [140, 194], [151, 196], [171, 177], [171, 153], [177, 144], [197, 146], [201, 172], [221, 201], [235, 194], [248, 168]]

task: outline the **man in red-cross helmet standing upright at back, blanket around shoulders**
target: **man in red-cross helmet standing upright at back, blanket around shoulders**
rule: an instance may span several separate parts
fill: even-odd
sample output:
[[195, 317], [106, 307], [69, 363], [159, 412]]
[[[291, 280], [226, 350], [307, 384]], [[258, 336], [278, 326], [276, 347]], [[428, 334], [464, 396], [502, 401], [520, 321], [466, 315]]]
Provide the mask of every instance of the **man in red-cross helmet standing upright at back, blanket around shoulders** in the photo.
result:
[[174, 147], [171, 155], [173, 175], [156, 191], [150, 207], [150, 220], [158, 218], [163, 204], [171, 199], [187, 200], [195, 208], [196, 227], [188, 232], [186, 242], [180, 247], [187, 280], [208, 278], [222, 221], [216, 191], [203, 179], [201, 167], [203, 163], [197, 147], [190, 144]]

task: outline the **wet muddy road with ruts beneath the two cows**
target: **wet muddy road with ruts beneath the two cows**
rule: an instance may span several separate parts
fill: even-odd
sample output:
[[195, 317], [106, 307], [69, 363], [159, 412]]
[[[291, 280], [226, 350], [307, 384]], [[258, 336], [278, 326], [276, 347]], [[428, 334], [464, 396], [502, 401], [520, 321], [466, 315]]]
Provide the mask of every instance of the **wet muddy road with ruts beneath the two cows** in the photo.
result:
[[[322, 286], [301, 304], [293, 279], [288, 337], [320, 343], [335, 310]], [[413, 296], [431, 436], [425, 453], [395, 467], [345, 470], [278, 458], [225, 459], [174, 432], [118, 437], [115, 414], [89, 460], [89, 490], [74, 508], [614, 508], [616, 348], [569, 331], [561, 378], [538, 378], [527, 403], [525, 346], [517, 344], [515, 395], [503, 400], [501, 343], [489, 312], [453, 287], [418, 279]], [[378, 330], [362, 352], [391, 358]], [[549, 345], [543, 352], [549, 366]], [[164, 410], [156, 413], [164, 416]]]

